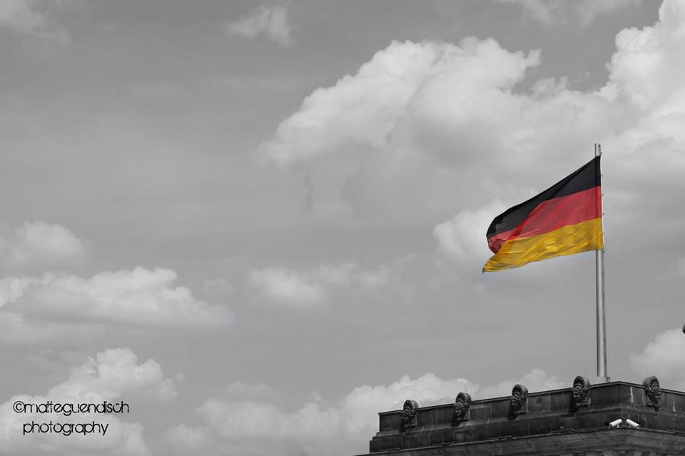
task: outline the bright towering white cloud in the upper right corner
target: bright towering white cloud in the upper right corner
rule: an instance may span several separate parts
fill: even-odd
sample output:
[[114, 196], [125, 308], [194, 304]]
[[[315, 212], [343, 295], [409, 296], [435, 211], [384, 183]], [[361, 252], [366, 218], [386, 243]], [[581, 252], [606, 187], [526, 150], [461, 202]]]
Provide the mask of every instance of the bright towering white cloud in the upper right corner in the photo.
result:
[[[607, 141], [620, 158], [617, 184], [639, 203], [644, 188], [682, 191], [685, 173], [685, 4], [666, 0], [659, 21], [643, 29], [624, 29], [609, 65], [604, 90], [623, 109], [624, 125]], [[640, 188], [640, 191], [637, 189]], [[651, 196], [650, 196], [651, 198]], [[652, 202], [644, 211], [659, 211]], [[641, 217], [646, 216], [645, 212]], [[671, 211], [659, 217], [671, 218]]]

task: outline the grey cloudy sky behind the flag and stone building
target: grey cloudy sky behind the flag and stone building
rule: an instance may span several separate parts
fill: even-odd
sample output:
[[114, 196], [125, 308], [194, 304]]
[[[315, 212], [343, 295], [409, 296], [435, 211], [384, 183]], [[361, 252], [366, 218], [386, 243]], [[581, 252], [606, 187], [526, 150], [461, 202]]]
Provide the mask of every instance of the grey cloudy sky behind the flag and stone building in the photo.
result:
[[347, 456], [592, 379], [594, 253], [480, 271], [595, 142], [609, 375], [685, 390], [684, 2], [0, 0], [0, 61], [4, 455]]

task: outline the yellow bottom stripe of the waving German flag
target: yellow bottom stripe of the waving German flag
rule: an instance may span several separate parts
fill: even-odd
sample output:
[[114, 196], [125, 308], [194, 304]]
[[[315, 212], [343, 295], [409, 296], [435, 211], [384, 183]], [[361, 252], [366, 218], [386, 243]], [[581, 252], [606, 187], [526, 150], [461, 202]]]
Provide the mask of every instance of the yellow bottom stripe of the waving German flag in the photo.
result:
[[593, 218], [575, 225], [562, 226], [549, 233], [507, 240], [487, 260], [483, 272], [519, 268], [533, 261], [602, 248], [602, 218]]

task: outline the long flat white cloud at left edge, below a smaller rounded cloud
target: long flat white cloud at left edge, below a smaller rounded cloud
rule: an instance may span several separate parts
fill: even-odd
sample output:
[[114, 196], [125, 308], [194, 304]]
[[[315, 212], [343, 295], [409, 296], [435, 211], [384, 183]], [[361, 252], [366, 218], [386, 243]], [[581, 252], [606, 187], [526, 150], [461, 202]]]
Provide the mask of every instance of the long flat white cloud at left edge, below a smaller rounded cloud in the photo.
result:
[[88, 279], [54, 273], [5, 278], [0, 280], [0, 327], [6, 330], [4, 338], [30, 340], [31, 334], [50, 338], [61, 332], [61, 325], [201, 328], [230, 323], [227, 308], [196, 300], [175, 281], [173, 270], [142, 267]]

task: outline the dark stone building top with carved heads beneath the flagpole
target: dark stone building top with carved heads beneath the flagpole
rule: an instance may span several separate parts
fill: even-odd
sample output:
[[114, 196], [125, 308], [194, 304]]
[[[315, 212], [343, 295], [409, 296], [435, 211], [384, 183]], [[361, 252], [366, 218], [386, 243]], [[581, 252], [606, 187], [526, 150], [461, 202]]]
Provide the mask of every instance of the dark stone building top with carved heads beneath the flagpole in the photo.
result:
[[582, 377], [569, 388], [380, 412], [369, 456], [662, 456], [685, 455], [685, 393]]

